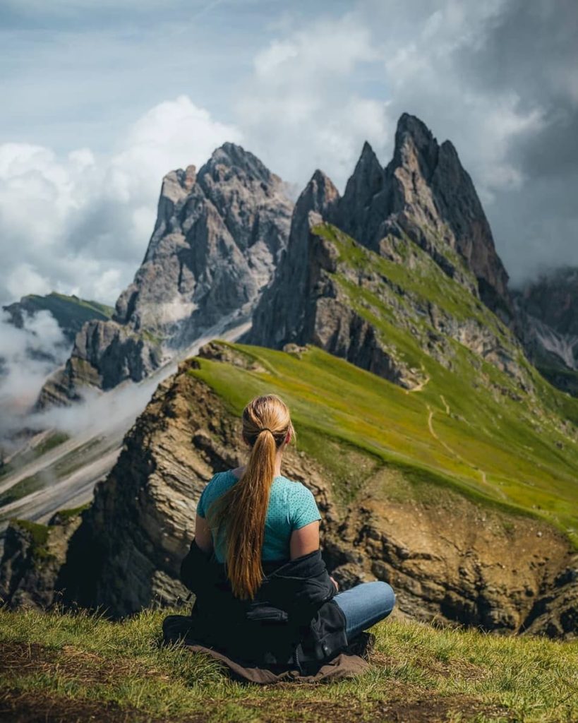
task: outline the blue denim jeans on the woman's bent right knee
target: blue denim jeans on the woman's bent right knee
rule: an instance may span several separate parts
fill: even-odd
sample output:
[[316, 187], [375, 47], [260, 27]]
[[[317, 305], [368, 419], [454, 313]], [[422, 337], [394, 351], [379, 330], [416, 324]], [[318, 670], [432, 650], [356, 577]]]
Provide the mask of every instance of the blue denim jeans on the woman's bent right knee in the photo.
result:
[[359, 583], [350, 590], [338, 593], [333, 598], [342, 609], [347, 626], [348, 641], [362, 630], [371, 628], [392, 612], [395, 593], [392, 586], [380, 580], [373, 583]]

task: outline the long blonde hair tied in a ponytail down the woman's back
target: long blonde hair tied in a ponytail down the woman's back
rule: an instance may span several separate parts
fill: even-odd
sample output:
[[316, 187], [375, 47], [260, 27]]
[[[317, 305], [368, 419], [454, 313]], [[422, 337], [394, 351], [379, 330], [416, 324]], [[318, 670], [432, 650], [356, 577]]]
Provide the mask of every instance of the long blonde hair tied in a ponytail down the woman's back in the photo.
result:
[[263, 580], [261, 554], [275, 455], [291, 432], [289, 408], [275, 394], [254, 397], [243, 409], [243, 439], [251, 456], [241, 478], [207, 510], [212, 529], [224, 526], [225, 565], [233, 594], [252, 599]]

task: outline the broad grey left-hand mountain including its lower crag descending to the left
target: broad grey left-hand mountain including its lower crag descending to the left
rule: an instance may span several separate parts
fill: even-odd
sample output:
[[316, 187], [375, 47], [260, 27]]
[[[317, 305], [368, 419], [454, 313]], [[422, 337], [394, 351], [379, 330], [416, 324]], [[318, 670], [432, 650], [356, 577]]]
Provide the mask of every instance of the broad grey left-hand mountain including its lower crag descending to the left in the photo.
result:
[[165, 176], [147, 253], [113, 320], [82, 328], [40, 406], [77, 398], [85, 385], [142, 380], [209, 328], [249, 318], [287, 244], [293, 204], [284, 189], [231, 143], [198, 174], [189, 166]]

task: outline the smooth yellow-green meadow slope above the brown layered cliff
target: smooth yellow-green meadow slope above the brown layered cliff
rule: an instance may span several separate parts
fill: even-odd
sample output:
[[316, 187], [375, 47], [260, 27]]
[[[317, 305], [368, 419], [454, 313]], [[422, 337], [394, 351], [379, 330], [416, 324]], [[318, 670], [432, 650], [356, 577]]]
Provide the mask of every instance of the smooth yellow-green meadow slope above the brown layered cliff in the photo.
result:
[[[414, 485], [448, 486], [484, 504], [539, 515], [578, 544], [578, 447], [564, 439], [566, 448], [559, 450], [560, 435], [532, 429], [519, 405], [496, 401], [473, 388], [468, 377], [434, 364], [428, 369], [431, 381], [411, 393], [313, 346], [301, 358], [226, 346], [246, 355], [255, 369], [199, 359], [199, 369], [190, 373], [205, 380], [235, 414], [252, 395], [281, 395], [292, 410], [298, 448], [335, 473], [345, 488], [337, 490], [342, 497], [351, 497], [350, 487], [363, 486], [363, 479], [358, 469], [340, 469], [340, 455], [328, 440], [337, 448], [363, 450]], [[431, 412], [435, 436], [428, 424]]]

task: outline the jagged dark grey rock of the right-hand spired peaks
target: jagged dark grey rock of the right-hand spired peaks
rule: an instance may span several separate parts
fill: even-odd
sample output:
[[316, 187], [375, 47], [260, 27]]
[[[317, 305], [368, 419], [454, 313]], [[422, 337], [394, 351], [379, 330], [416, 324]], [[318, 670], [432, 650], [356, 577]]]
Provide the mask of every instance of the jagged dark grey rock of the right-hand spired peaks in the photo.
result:
[[[345, 239], [342, 232], [350, 239], [336, 245], [339, 237]], [[384, 262], [371, 253], [361, 260], [361, 247]], [[389, 268], [377, 271], [385, 262]], [[411, 293], [416, 283], [408, 272], [422, 287], [420, 298]], [[451, 281], [456, 298], [459, 286], [462, 298], [454, 311], [443, 298], [438, 303], [431, 293], [435, 286], [427, 288], [430, 281], [437, 288], [449, 288]], [[296, 203], [287, 252], [243, 341], [276, 348], [312, 342], [415, 388], [423, 373], [402, 361], [394, 340], [380, 329], [384, 317], [394, 315], [394, 326], [407, 328], [426, 353], [446, 366], [451, 355], [440, 353], [439, 343], [449, 336], [529, 389], [531, 382], [516, 361], [519, 344], [506, 325], [496, 327], [495, 317], [490, 320], [477, 308], [483, 301], [511, 322], [506, 283], [488, 221], [454, 147], [449, 141], [439, 146], [421, 121], [404, 114], [392, 161], [381, 168], [366, 143], [342, 197], [316, 171]], [[430, 327], [425, 333], [424, 320]]]

